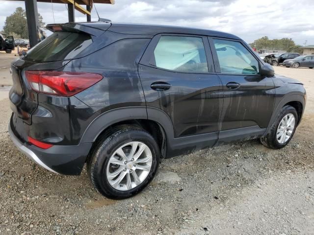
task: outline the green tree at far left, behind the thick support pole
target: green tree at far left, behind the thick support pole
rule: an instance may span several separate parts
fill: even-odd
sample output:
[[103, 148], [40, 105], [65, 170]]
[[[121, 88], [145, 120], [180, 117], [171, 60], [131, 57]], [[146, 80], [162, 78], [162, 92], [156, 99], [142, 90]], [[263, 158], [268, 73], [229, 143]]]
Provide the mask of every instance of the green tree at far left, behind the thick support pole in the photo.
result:
[[[39, 27], [45, 27], [43, 17], [38, 13]], [[17, 7], [15, 12], [6, 17], [3, 31], [6, 35], [17, 35], [16, 38], [28, 38], [26, 12], [22, 7]]]

